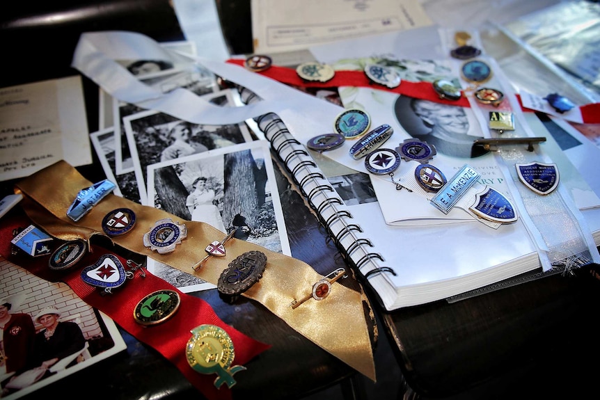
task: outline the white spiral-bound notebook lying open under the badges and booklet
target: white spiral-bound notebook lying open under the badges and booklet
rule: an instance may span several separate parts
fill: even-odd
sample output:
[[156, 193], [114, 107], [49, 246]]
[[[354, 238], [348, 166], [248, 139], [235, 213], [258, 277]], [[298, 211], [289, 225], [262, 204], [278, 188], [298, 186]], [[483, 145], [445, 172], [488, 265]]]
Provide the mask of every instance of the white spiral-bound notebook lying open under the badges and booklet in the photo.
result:
[[[238, 89], [242, 102], [260, 100], [250, 90]], [[507, 225], [501, 234], [476, 222], [388, 225], [368, 175], [308, 150], [276, 113], [255, 122], [335, 244], [388, 311], [457, 301], [563, 271], [542, 273], [535, 246], [520, 223]], [[584, 216], [600, 243], [600, 209], [585, 210]]]

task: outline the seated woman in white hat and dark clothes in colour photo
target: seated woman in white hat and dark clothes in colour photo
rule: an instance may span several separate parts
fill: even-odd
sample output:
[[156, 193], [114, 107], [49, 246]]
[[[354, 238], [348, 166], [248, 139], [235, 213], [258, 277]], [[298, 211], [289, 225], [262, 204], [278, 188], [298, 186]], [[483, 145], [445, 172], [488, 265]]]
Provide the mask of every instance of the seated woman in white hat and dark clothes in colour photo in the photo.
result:
[[[56, 307], [46, 307], [35, 315], [35, 322], [44, 327], [35, 335], [35, 356], [38, 365], [45, 368], [80, 351], [86, 343], [79, 325], [70, 321], [59, 322], [60, 317], [61, 312]], [[73, 360], [72, 364], [76, 362]]]

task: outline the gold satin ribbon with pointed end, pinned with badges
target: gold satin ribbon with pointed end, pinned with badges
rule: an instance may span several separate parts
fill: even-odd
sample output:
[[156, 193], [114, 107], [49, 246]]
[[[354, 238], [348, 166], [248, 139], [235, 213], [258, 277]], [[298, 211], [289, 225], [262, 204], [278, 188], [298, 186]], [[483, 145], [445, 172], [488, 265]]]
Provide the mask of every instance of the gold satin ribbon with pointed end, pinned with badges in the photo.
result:
[[[43, 213], [36, 209], [39, 207], [35, 203], [22, 202], [22, 207], [33, 222], [63, 240], [89, 240], [94, 234], [104, 234], [102, 219], [106, 214], [121, 207], [132, 209], [136, 214], [136, 225], [131, 232], [112, 237], [114, 243], [214, 285], [221, 271], [237, 256], [250, 250], [262, 251], [267, 255], [265, 272], [260, 281], [243, 295], [265, 305], [298, 333], [375, 381], [373, 349], [361, 293], [334, 282], [330, 296], [322, 301], [306, 301], [292, 310], [290, 303], [310, 293], [313, 284], [323, 276], [299, 259], [235, 238], [226, 243], [225, 257], [210, 257], [202, 268], [194, 271], [192, 266], [206, 255], [206, 246], [212, 241], [221, 241], [225, 237], [223, 232], [207, 223], [182, 220], [166, 211], [139, 205], [112, 193], [74, 223], [68, 218], [67, 209], [77, 193], [92, 183], [66, 161], [58, 161], [18, 182], [15, 193], [31, 198], [58, 217], [62, 223], [56, 223], [56, 218], [43, 218]], [[161, 255], [143, 246], [142, 237], [162, 218], [184, 223], [187, 238], [177, 245], [174, 252]]]

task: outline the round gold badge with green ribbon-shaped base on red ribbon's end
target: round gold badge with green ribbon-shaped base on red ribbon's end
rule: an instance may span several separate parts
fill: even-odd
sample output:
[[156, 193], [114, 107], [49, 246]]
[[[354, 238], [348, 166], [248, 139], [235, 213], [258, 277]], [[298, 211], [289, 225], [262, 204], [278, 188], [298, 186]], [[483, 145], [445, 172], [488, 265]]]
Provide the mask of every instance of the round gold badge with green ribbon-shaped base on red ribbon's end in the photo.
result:
[[217, 374], [214, 385], [218, 389], [226, 383], [228, 387], [235, 385], [233, 375], [246, 367], [231, 367], [235, 351], [228, 333], [219, 326], [204, 324], [191, 331], [192, 337], [187, 341], [187, 362], [194, 371], [200, 374]]

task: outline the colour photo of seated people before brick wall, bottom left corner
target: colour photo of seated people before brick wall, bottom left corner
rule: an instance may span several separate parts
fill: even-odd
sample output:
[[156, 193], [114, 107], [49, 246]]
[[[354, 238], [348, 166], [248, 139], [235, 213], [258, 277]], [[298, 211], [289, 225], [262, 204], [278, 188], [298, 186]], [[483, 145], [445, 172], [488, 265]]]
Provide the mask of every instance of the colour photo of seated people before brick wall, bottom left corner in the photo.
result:
[[0, 282], [2, 399], [18, 399], [127, 349], [113, 320], [65, 283], [38, 278], [3, 258]]

